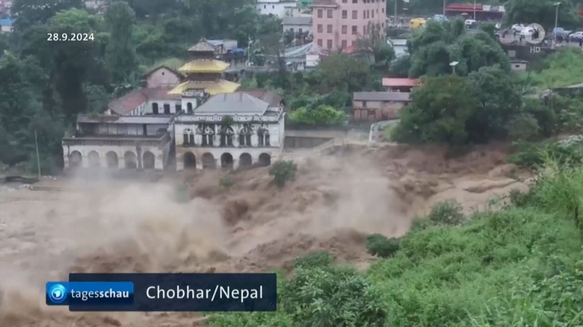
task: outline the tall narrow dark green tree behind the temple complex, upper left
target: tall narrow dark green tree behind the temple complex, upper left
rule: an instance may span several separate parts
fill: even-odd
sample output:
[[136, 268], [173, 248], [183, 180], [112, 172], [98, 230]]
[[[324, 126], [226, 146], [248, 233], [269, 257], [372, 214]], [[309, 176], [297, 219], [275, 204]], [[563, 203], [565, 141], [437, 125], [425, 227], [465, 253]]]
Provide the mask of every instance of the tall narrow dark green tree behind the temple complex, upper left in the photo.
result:
[[134, 10], [126, 2], [114, 2], [108, 6], [105, 20], [110, 30], [105, 57], [112, 82], [117, 83], [124, 81], [138, 68], [136, 49], [132, 44]]

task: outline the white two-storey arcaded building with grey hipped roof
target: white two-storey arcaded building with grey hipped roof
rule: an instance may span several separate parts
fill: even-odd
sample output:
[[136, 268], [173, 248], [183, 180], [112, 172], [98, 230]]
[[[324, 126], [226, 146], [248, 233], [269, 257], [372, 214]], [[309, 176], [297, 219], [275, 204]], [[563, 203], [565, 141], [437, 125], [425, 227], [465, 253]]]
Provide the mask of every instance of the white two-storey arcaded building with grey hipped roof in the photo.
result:
[[268, 166], [283, 148], [283, 107], [244, 92], [215, 95], [174, 120], [177, 170]]

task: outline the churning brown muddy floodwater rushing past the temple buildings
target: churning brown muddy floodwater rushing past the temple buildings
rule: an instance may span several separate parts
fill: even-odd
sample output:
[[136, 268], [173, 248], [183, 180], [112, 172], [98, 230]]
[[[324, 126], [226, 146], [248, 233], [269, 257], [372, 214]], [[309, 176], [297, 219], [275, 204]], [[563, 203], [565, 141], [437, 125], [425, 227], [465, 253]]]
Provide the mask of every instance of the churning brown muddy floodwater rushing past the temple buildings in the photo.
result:
[[469, 213], [526, 189], [505, 155], [336, 147], [294, 157], [297, 178], [283, 189], [266, 168], [234, 172], [231, 187], [219, 185], [219, 171], [180, 176], [192, 198], [184, 203], [176, 179], [38, 183], [59, 192], [0, 185], [0, 327], [196, 325], [195, 313], [48, 308], [44, 283], [69, 272], [262, 272], [311, 251], [366, 267], [367, 234], [402, 235], [442, 200]]

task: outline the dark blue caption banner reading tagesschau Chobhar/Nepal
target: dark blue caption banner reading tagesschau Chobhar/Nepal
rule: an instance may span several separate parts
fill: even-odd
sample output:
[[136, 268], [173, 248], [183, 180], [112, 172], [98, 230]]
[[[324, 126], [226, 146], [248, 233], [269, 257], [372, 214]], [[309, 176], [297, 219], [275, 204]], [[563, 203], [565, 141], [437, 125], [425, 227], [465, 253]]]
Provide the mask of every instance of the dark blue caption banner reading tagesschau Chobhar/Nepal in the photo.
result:
[[276, 274], [69, 274], [46, 286], [70, 311], [275, 311]]

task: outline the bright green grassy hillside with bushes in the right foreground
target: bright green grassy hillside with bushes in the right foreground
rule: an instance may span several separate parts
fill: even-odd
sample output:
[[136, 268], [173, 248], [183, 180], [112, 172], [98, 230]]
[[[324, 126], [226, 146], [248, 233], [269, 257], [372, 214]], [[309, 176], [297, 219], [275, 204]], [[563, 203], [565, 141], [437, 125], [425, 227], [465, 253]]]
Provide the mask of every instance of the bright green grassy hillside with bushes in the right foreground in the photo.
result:
[[582, 166], [551, 162], [528, 194], [512, 192], [501, 211], [447, 225], [447, 210], [436, 210], [399, 239], [392, 257], [364, 274], [329, 263], [323, 253], [301, 258], [293, 278], [280, 279], [279, 312], [211, 321], [249, 327], [581, 326], [582, 200]]

